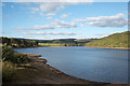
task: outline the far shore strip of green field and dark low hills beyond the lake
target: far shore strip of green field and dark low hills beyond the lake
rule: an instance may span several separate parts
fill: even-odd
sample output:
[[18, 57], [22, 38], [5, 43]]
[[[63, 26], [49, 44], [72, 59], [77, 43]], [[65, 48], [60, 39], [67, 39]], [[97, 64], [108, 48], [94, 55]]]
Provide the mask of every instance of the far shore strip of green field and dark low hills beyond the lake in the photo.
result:
[[42, 46], [83, 46], [84, 43], [96, 39], [58, 39], [58, 40], [38, 40], [39, 45]]

